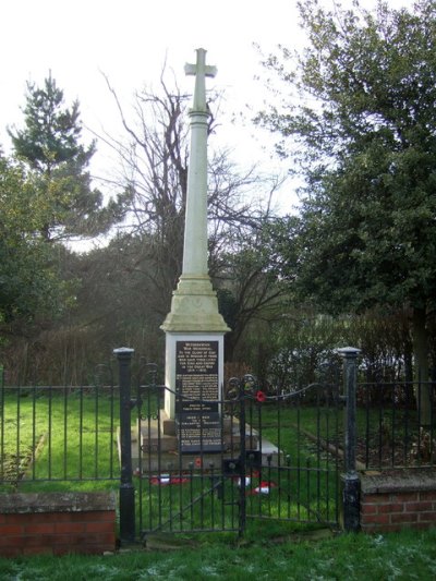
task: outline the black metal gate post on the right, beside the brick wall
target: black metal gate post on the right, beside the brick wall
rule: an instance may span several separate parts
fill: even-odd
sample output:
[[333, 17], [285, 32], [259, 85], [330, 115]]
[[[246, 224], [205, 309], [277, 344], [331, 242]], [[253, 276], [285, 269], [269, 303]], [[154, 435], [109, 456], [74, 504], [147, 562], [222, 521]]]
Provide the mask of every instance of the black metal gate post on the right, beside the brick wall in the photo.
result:
[[343, 396], [346, 400], [344, 416], [344, 462], [346, 473], [343, 481], [343, 528], [348, 532], [360, 529], [360, 480], [355, 470], [356, 446], [356, 402], [355, 391], [358, 384], [358, 355], [360, 349], [344, 347], [338, 349], [343, 358]]

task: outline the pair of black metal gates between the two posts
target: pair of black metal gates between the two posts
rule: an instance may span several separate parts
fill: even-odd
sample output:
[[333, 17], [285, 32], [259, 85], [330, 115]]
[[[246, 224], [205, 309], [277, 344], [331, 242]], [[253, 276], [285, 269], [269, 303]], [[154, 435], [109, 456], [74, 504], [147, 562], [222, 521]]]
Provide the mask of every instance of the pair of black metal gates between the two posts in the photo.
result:
[[[148, 365], [122, 404], [132, 411], [129, 434], [120, 436], [131, 450], [130, 458], [121, 450], [122, 541], [132, 541], [134, 531], [143, 538], [153, 532], [242, 534], [247, 519], [338, 525], [343, 398], [337, 382], [278, 392], [251, 375], [231, 379], [219, 402], [214, 451], [199, 438], [196, 450], [181, 452], [182, 427], [168, 428], [162, 411], [166, 391]], [[196, 403], [201, 411], [209, 402]]]

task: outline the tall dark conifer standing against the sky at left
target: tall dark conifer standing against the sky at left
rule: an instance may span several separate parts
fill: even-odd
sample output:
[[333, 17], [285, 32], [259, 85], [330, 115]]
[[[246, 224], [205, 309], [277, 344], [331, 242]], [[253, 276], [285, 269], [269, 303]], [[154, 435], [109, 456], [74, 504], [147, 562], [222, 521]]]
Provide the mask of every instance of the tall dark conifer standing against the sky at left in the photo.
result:
[[[72, 234], [95, 235], [108, 226], [102, 196], [92, 187], [87, 166], [95, 153], [80, 143], [78, 102], [63, 107], [63, 92], [51, 75], [43, 88], [27, 85], [24, 129], [9, 130], [16, 157], [28, 169], [34, 196], [45, 209], [40, 234], [46, 241]], [[113, 209], [113, 208], [112, 208]]]

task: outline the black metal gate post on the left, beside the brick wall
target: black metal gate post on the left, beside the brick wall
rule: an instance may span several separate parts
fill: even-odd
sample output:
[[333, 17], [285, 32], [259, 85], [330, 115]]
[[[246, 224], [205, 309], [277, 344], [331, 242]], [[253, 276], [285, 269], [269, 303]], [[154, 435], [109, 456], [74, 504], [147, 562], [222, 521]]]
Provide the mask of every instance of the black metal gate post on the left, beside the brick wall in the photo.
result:
[[120, 541], [135, 541], [135, 489], [132, 479], [131, 360], [134, 349], [114, 349], [120, 386]]

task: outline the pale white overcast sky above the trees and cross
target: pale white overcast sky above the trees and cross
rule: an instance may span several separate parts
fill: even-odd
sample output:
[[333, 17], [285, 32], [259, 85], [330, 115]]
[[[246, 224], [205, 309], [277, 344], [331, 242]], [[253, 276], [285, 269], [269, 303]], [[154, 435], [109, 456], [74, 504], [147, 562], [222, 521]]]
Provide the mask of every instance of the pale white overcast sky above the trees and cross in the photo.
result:
[[[374, 2], [361, 3], [370, 8]], [[412, 0], [388, 3], [411, 5]], [[261, 102], [262, 83], [253, 77], [262, 69], [253, 43], [268, 51], [278, 44], [292, 47], [302, 41], [296, 0], [2, 0], [0, 26], [4, 149], [5, 126], [23, 120], [26, 82], [40, 85], [49, 71], [66, 102], [78, 99], [86, 126], [111, 132], [117, 112], [101, 72], [125, 104], [145, 84], [158, 84], [165, 60], [180, 87], [192, 90], [193, 78], [185, 78], [183, 66], [202, 47], [207, 62], [218, 68], [214, 85], [225, 90], [231, 114], [245, 104]], [[238, 149], [241, 143], [235, 140], [251, 143], [251, 129], [238, 137], [230, 126], [219, 131]]]

